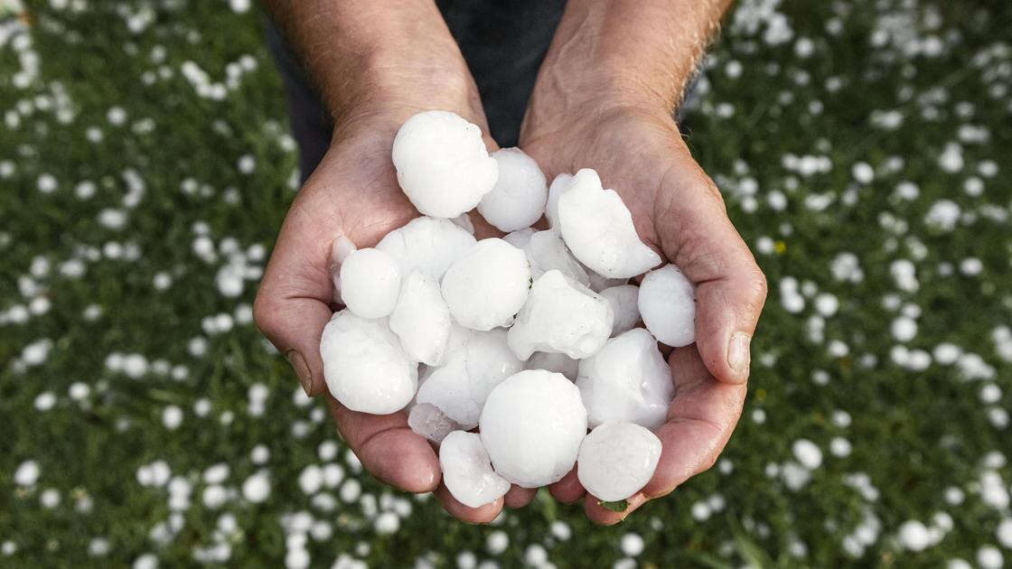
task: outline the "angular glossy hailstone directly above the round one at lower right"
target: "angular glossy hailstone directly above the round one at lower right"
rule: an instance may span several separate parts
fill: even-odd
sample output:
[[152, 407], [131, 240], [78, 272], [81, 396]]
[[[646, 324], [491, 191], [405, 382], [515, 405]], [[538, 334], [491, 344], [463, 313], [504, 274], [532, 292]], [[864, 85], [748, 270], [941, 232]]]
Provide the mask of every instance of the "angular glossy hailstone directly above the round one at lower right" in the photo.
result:
[[611, 338], [600, 351], [582, 359], [576, 385], [591, 427], [626, 421], [657, 428], [664, 424], [675, 393], [657, 340], [643, 328]]

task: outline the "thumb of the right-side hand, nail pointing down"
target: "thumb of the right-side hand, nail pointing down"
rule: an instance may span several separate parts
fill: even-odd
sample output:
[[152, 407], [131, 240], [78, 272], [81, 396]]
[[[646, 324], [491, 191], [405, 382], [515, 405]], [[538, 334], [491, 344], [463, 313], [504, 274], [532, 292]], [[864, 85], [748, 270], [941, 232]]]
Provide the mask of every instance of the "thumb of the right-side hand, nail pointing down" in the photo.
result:
[[749, 377], [750, 343], [766, 278], [728, 219], [713, 182], [691, 158], [665, 176], [661, 246], [696, 286], [695, 340], [706, 369], [731, 384]]

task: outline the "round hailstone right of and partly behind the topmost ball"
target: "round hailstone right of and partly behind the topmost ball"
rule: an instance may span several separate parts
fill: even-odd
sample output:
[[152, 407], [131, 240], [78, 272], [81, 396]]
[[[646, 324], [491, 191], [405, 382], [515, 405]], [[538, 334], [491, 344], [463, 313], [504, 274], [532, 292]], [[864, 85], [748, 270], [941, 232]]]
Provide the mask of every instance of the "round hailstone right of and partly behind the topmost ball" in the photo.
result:
[[499, 178], [492, 191], [478, 204], [478, 213], [499, 231], [510, 232], [533, 225], [544, 214], [549, 186], [534, 159], [519, 148], [492, 153], [499, 163]]

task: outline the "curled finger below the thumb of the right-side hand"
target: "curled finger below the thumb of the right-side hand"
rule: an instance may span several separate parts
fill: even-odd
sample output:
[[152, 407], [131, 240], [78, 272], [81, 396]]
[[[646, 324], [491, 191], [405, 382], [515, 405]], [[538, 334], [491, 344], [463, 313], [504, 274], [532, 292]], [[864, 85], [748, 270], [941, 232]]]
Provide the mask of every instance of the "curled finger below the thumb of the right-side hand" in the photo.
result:
[[661, 458], [654, 477], [643, 489], [648, 498], [668, 494], [713, 466], [745, 402], [745, 385], [713, 379], [695, 347], [675, 349], [669, 362], [675, 398], [668, 408], [668, 421], [657, 431]]

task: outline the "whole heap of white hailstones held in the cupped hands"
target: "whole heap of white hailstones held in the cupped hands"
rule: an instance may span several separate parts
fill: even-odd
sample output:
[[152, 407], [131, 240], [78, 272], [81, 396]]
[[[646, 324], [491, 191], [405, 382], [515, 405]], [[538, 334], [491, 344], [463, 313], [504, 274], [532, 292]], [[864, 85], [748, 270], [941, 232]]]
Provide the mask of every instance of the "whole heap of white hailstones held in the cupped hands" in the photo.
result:
[[[594, 170], [549, 187], [529, 156], [490, 155], [477, 126], [439, 110], [401, 127], [393, 159], [423, 217], [374, 248], [335, 242], [346, 309], [321, 338], [330, 392], [355, 411], [407, 410], [471, 507], [574, 464], [602, 502], [638, 492], [674, 396], [658, 341], [694, 341], [692, 283], [655, 268], [660, 256]], [[475, 208], [505, 237], [476, 240]], [[550, 229], [530, 227], [542, 216]]]

